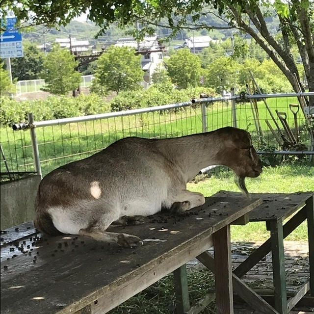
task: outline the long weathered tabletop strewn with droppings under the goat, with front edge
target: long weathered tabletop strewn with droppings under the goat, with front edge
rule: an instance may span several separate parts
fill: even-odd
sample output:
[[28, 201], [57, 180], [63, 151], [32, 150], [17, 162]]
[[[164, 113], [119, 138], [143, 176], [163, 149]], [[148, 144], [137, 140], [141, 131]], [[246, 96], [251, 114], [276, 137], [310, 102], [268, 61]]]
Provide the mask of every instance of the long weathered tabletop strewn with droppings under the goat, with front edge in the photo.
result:
[[141, 237], [137, 249], [81, 236], [42, 237], [34, 229], [17, 239], [14, 228], [14, 241], [1, 246], [1, 313], [65, 314], [89, 304], [105, 313], [207, 250], [214, 232], [259, 204], [214, 195], [182, 217], [160, 213], [142, 226], [111, 229]]

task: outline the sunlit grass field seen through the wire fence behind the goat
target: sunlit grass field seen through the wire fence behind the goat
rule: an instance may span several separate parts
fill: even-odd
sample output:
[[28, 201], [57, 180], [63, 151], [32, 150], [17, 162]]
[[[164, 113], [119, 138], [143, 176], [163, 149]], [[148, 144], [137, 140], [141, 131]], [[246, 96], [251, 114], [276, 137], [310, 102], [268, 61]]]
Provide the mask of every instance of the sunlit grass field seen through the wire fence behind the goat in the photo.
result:
[[[288, 111], [289, 103], [297, 103], [297, 99], [290, 97], [268, 100], [273, 114], [275, 114], [275, 109], [287, 112], [288, 122], [292, 127], [293, 115]], [[264, 120], [270, 120], [269, 113], [262, 102], [259, 103], [259, 108], [265, 142], [269, 147], [279, 148], [266, 128]], [[237, 126], [250, 131], [255, 147], [263, 148], [262, 141], [255, 131], [250, 104], [237, 104], [236, 114]], [[299, 124], [302, 125], [303, 117], [300, 112], [298, 117]], [[231, 103], [208, 105], [207, 126], [208, 131], [232, 126]], [[169, 110], [163, 113], [151, 112], [36, 129], [44, 175], [62, 164], [88, 157], [126, 136], [165, 138], [197, 132], [202, 132], [202, 114], [199, 105], [175, 112]], [[302, 132], [302, 142], [306, 145], [309, 145], [308, 138], [308, 134]], [[0, 141], [11, 171], [34, 169], [29, 131], [14, 132], [9, 128], [2, 128]], [[1, 171], [4, 171], [3, 163], [1, 163]]]

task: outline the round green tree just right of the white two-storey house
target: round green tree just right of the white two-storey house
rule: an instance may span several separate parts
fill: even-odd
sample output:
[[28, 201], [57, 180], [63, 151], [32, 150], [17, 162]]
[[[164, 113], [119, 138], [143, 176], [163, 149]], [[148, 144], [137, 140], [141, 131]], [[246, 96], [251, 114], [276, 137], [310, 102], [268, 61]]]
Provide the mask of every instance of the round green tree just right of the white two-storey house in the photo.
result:
[[179, 88], [195, 87], [201, 78], [200, 58], [188, 48], [179, 49], [166, 62], [167, 72]]

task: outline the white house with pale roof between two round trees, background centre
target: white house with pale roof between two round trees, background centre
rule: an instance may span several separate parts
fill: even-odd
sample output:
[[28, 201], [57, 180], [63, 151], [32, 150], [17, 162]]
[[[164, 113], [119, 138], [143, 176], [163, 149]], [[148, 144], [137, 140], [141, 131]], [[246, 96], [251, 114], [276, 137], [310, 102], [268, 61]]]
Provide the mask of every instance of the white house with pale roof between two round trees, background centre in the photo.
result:
[[115, 46], [131, 47], [135, 49], [136, 54], [142, 55], [142, 69], [145, 72], [144, 81], [150, 83], [152, 74], [163, 61], [163, 52], [165, 47], [158, 41], [157, 35], [146, 36], [142, 41], [134, 38], [119, 38]]

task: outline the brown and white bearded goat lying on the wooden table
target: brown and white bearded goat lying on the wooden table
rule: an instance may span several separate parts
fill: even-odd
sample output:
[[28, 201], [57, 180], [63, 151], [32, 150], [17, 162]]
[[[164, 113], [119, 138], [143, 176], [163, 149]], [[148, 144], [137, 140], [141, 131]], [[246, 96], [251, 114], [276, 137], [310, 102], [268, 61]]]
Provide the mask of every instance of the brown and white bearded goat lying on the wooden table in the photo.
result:
[[161, 209], [183, 212], [203, 205], [203, 194], [186, 190], [186, 183], [200, 169], [217, 164], [235, 172], [245, 193], [244, 178], [262, 172], [250, 135], [240, 129], [118, 140], [43, 178], [35, 201], [35, 227], [49, 235], [87, 235], [135, 247], [142, 244], [140, 238], [108, 232], [110, 224], [136, 224], [137, 217]]

